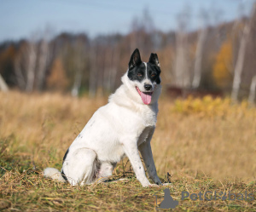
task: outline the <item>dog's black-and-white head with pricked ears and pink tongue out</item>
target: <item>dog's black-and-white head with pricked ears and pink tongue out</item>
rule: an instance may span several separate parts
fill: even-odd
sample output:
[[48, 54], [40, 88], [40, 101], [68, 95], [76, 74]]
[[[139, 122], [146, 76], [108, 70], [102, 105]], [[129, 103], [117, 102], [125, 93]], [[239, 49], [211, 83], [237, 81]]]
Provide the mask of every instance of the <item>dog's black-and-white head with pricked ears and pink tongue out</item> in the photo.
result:
[[143, 62], [139, 50], [135, 49], [128, 66], [127, 77], [132, 81], [131, 89], [137, 91], [145, 105], [150, 104], [155, 89], [160, 85], [161, 71], [157, 54], [151, 53], [148, 62]]

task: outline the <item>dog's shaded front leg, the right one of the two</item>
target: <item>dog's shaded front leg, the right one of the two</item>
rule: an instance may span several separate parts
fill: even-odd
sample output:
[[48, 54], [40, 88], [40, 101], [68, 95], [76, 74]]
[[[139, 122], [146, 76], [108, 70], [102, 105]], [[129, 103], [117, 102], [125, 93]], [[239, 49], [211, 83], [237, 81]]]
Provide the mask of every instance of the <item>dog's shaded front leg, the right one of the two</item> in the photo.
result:
[[143, 156], [143, 160], [147, 167], [149, 178], [151, 180], [153, 180], [154, 183], [156, 183], [157, 185], [161, 185], [161, 181], [160, 181], [158, 175], [156, 174], [154, 158], [153, 158], [153, 154], [152, 154], [152, 150], [151, 150], [151, 146], [150, 146], [150, 140], [143, 142], [143, 144], [141, 144], [139, 146], [139, 151], [141, 152], [141, 154]]

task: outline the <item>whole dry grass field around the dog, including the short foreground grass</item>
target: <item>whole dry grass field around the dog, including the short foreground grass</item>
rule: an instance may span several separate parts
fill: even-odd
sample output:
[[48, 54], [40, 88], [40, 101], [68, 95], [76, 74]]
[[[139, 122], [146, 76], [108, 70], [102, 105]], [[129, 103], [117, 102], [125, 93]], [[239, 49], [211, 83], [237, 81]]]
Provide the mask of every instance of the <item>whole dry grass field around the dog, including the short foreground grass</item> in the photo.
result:
[[[106, 102], [0, 93], [0, 210], [155, 210], [154, 195], [159, 204], [164, 187], [143, 188], [126, 160], [119, 163], [113, 179], [128, 180], [117, 183], [72, 187], [42, 175], [45, 167], [61, 169], [67, 147]], [[256, 210], [256, 108], [247, 102], [162, 97], [152, 149], [160, 178], [172, 182], [168, 187], [179, 202], [175, 211]], [[184, 191], [218, 196], [230, 192], [236, 200], [182, 200]], [[252, 193], [253, 201], [245, 200], [246, 192]]]

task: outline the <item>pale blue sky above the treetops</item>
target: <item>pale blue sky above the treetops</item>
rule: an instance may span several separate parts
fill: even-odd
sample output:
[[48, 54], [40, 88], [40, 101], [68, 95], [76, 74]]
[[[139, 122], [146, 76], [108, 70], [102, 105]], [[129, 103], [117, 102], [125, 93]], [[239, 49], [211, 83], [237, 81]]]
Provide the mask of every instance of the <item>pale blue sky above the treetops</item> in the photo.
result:
[[1, 0], [0, 42], [32, 37], [50, 29], [85, 32], [90, 37], [128, 33], [132, 20], [141, 20], [143, 11], [151, 16], [154, 28], [163, 32], [177, 29], [177, 15], [187, 8], [189, 30], [201, 25], [200, 14], [207, 11], [211, 24], [248, 15], [254, 0]]

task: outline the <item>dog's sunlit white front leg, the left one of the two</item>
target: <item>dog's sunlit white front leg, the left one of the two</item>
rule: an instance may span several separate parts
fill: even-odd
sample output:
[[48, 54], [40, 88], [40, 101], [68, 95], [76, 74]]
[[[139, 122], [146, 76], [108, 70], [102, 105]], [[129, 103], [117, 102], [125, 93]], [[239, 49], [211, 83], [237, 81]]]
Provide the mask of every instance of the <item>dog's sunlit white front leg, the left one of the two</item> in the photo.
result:
[[151, 184], [149, 183], [145, 170], [143, 168], [143, 163], [140, 158], [139, 152], [137, 150], [137, 142], [126, 140], [123, 143], [125, 155], [129, 158], [131, 166], [136, 174], [137, 180], [141, 182], [143, 187], [148, 187]]

